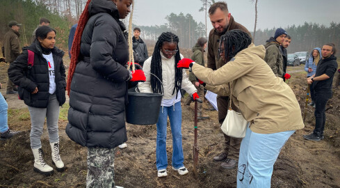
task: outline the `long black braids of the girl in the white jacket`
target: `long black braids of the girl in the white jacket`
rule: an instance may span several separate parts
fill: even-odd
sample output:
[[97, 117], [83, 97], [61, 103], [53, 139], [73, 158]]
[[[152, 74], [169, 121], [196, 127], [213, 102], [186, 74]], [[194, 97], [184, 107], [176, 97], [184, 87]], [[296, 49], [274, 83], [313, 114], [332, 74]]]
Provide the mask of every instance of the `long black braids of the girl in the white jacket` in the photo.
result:
[[[175, 88], [172, 91], [172, 95], [176, 91], [176, 98], [178, 91], [181, 89], [181, 79], [182, 79], [182, 69], [177, 68], [177, 63], [181, 60], [179, 56], [179, 47], [178, 42], [179, 38], [174, 33], [171, 32], [163, 32], [159, 39], [156, 42], [154, 47], [154, 53], [152, 54], [151, 59], [151, 73], [156, 75], [161, 81], [162, 79], [162, 58], [161, 58], [161, 48], [163, 47], [163, 42], [176, 42], [177, 43], [177, 52], [175, 54]], [[163, 93], [163, 88], [161, 82], [153, 75], [150, 77], [151, 88], [154, 93]]]

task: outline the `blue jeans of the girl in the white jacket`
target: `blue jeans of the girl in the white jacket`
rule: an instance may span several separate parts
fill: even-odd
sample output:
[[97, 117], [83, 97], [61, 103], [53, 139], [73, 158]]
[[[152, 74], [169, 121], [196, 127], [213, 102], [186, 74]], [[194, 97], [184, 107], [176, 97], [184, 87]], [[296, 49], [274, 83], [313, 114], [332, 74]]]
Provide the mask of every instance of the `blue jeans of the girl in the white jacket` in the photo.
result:
[[166, 169], [168, 157], [166, 155], [166, 125], [170, 120], [172, 133], [172, 166], [176, 169], [184, 166], [183, 148], [181, 146], [181, 102], [171, 107], [161, 107], [157, 122], [156, 139], [156, 167], [157, 170]]

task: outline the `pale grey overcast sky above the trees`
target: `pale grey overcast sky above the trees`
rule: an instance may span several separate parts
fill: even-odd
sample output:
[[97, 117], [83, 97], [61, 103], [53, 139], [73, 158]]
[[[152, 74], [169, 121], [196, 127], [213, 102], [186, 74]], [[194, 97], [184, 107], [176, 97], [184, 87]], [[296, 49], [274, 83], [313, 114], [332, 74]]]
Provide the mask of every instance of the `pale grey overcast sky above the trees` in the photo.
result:
[[[226, 1], [229, 13], [236, 22], [248, 30], [254, 30], [255, 5], [251, 0]], [[200, 0], [135, 0], [133, 24], [151, 26], [165, 24], [170, 13], [191, 14], [197, 22], [204, 24], [204, 13]], [[329, 26], [330, 22], [340, 22], [340, 0], [258, 0], [257, 29], [271, 29], [316, 22]], [[207, 18], [208, 31], [212, 29]]]

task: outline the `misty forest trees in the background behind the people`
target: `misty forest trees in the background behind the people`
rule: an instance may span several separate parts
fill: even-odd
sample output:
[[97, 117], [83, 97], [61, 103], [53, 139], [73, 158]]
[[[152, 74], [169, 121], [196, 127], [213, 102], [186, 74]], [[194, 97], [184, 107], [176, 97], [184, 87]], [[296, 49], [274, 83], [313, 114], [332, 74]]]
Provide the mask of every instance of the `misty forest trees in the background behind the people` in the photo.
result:
[[[57, 46], [64, 50], [67, 50], [70, 28], [77, 22], [86, 4], [86, 0], [1, 0], [0, 2], [0, 45], [4, 34], [9, 29], [8, 22], [10, 20], [22, 23], [19, 33], [22, 45], [25, 46], [29, 45], [31, 35], [38, 26], [40, 17], [46, 17], [51, 21], [50, 26], [57, 31]], [[210, 3], [207, 2], [197, 0], [197, 3], [202, 3], [202, 10], [209, 9]], [[202, 11], [202, 14], [205, 14], [205, 11]], [[128, 19], [129, 17], [123, 22], [128, 24]], [[197, 38], [206, 36], [206, 25], [197, 22], [188, 13], [170, 13], [165, 19], [168, 22], [161, 25], [138, 26], [142, 30], [140, 37], [147, 44], [154, 45], [162, 32], [171, 31], [179, 36], [179, 46], [189, 49], [195, 45]], [[207, 19], [207, 24], [210, 24], [209, 17]], [[133, 25], [133, 27], [135, 26]], [[276, 29], [257, 30], [255, 45], [264, 45], [266, 40], [274, 35]], [[298, 26], [295, 24], [285, 26], [284, 29], [293, 38], [293, 42], [288, 48], [289, 53], [310, 52], [314, 47], [321, 47], [327, 42], [333, 42], [336, 47], [340, 46], [340, 22], [330, 22], [329, 25], [305, 22]], [[251, 28], [248, 30], [253, 31]]]

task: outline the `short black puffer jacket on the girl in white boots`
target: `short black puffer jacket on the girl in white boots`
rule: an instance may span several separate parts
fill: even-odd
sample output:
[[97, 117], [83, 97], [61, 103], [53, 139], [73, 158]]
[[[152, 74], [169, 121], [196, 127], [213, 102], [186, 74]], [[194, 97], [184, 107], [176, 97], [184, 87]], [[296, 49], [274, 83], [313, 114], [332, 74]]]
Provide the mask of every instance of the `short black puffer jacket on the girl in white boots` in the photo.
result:
[[[28, 70], [29, 52], [34, 52], [34, 63], [31, 70]], [[59, 105], [65, 103], [65, 67], [63, 64], [64, 52], [57, 47], [52, 49], [54, 60], [54, 73], [56, 75], [56, 97]], [[22, 49], [17, 59], [10, 63], [8, 77], [18, 87], [19, 97], [29, 107], [46, 108], [49, 102], [49, 68], [46, 59], [42, 56], [42, 49], [39, 42], [33, 42], [29, 47]], [[38, 87], [38, 93], [31, 94]]]

